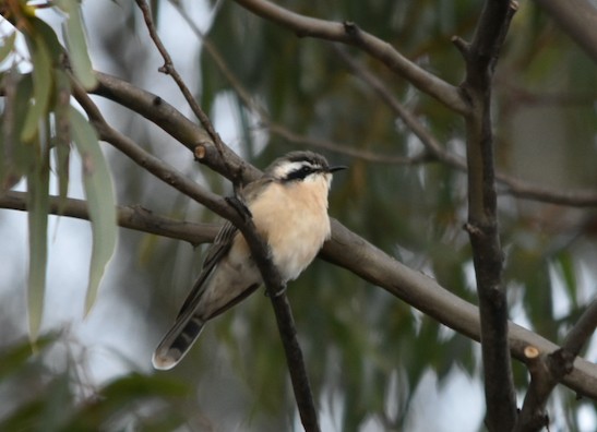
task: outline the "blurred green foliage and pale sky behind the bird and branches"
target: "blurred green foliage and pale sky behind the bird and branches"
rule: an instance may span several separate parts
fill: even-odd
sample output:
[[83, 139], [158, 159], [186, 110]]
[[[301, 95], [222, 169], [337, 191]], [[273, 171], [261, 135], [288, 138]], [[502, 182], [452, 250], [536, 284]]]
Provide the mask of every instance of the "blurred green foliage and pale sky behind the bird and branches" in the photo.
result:
[[[228, 145], [261, 168], [296, 148], [348, 165], [335, 176], [331, 215], [476, 302], [462, 229], [465, 175], [417, 159], [422, 144], [331, 44], [298, 38], [231, 1], [152, 3], [176, 68]], [[310, 16], [354, 21], [454, 85], [463, 80], [464, 65], [450, 38], [470, 39], [480, 12], [471, 0], [276, 3]], [[82, 10], [96, 70], [155, 93], [192, 118], [171, 79], [157, 72], [163, 61], [133, 2], [88, 1]], [[60, 33], [63, 16], [51, 10], [39, 16]], [[341, 48], [447, 151], [465, 154], [458, 116], [374, 59]], [[498, 169], [560, 191], [595, 189], [596, 84], [594, 62], [534, 2], [522, 1], [494, 81]], [[228, 181], [195, 164], [162, 130], [95, 100], [112, 127], [145, 149], [214, 192], [230, 192]], [[110, 146], [103, 148], [119, 204], [217, 221]], [[80, 170], [75, 157], [69, 196], [83, 197]], [[595, 211], [508, 194], [500, 195], [499, 206], [511, 317], [559, 343], [595, 297]], [[84, 317], [88, 223], [50, 217], [41, 356], [28, 356], [26, 226], [26, 214], [0, 211], [0, 427], [15, 428], [4, 430], [300, 430], [262, 291], [210, 323], [178, 368], [151, 369], [152, 351], [190, 289], [204, 247], [120, 229], [97, 303]], [[288, 295], [322, 430], [482, 430], [476, 343], [322, 261], [292, 283]], [[597, 358], [595, 337], [584, 356]], [[515, 362], [514, 372], [523, 397], [526, 369]], [[551, 398], [550, 430], [595, 431], [595, 408], [559, 387]]]

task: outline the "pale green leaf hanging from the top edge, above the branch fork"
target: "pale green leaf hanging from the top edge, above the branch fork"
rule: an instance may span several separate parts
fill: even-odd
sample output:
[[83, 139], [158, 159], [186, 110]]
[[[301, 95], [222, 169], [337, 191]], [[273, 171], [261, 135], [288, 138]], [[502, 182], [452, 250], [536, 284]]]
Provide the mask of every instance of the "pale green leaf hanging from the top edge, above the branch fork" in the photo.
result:
[[63, 26], [64, 39], [69, 48], [69, 60], [74, 75], [86, 89], [93, 88], [97, 80], [93, 73], [92, 60], [87, 51], [81, 4], [76, 0], [60, 2], [61, 8], [69, 14]]

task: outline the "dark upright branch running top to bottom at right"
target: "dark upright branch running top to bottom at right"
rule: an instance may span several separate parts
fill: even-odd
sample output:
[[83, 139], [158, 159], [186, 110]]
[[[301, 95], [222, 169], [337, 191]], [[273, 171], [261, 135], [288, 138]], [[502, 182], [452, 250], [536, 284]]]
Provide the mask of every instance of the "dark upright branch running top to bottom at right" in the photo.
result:
[[516, 8], [509, 0], [486, 0], [473, 41], [467, 45], [455, 39], [466, 63], [462, 88], [470, 105], [465, 117], [468, 171], [468, 221], [465, 228], [473, 247], [477, 279], [486, 425], [491, 432], [511, 431], [516, 422], [491, 130], [491, 79]]

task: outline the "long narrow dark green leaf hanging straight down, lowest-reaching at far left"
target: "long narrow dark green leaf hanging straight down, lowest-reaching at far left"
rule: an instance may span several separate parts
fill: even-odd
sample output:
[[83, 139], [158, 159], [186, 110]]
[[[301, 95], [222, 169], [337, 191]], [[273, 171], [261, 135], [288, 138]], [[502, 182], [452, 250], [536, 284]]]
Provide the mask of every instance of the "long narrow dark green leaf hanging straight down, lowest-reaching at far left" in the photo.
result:
[[[46, 122], [46, 131], [48, 131]], [[41, 131], [43, 132], [43, 131]], [[37, 339], [44, 296], [46, 291], [46, 266], [48, 261], [48, 212], [49, 212], [49, 146], [44, 135], [39, 135], [36, 155], [27, 173], [27, 219], [29, 230], [29, 272], [27, 311], [29, 316], [29, 338]]]

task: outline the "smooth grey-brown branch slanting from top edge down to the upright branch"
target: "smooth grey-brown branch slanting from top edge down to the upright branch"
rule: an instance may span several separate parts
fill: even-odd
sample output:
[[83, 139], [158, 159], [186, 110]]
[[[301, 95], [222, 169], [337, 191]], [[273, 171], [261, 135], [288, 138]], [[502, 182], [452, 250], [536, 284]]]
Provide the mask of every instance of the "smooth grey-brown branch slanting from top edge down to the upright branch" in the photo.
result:
[[294, 31], [299, 37], [317, 37], [356, 46], [454, 111], [465, 113], [468, 109], [457, 87], [427, 72], [386, 41], [358, 28], [355, 23], [334, 23], [305, 16], [265, 0], [235, 1], [263, 19]]

